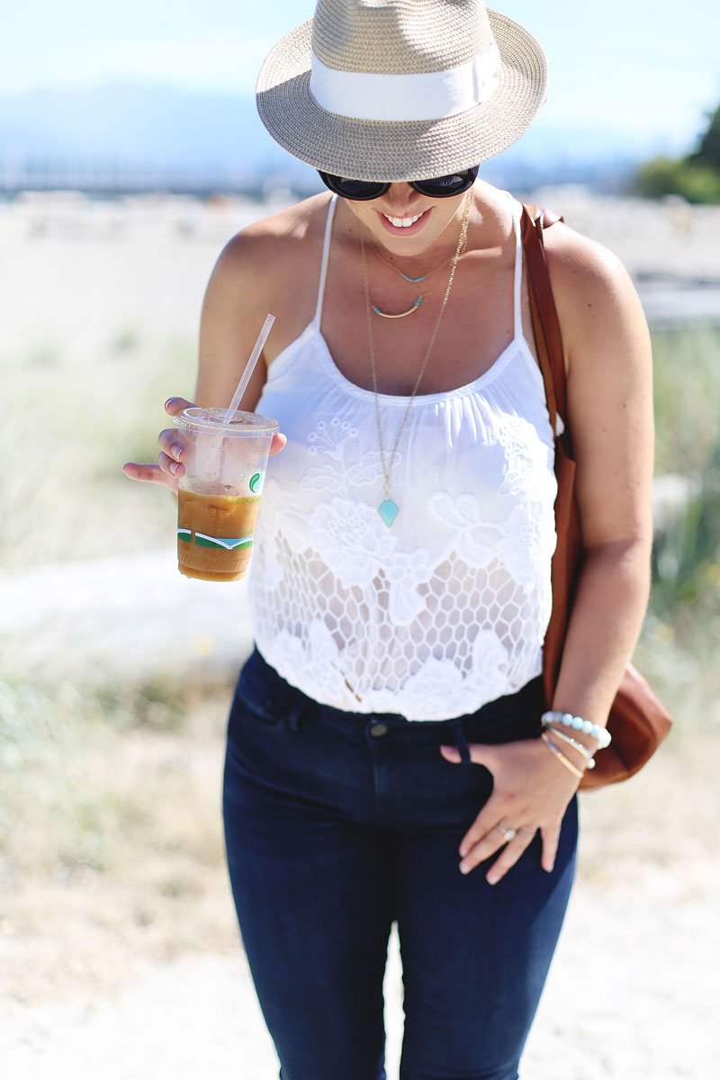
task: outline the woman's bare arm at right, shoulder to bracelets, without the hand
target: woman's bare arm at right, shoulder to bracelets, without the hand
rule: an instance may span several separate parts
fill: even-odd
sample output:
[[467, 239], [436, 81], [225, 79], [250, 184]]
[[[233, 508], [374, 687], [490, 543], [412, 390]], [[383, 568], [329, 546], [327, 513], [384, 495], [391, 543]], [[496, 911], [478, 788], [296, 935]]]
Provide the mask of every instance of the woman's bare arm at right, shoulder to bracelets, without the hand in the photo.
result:
[[556, 225], [547, 258], [566, 350], [584, 549], [553, 707], [604, 725], [650, 586], [650, 336], [614, 255]]

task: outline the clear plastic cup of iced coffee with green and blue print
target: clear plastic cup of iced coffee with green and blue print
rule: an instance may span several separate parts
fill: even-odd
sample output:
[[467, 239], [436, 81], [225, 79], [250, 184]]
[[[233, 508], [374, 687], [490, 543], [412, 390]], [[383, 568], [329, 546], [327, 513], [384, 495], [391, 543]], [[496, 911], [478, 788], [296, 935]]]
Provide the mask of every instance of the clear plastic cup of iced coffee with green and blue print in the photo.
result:
[[203, 581], [245, 577], [277, 421], [257, 413], [182, 409], [185, 475], [178, 480], [177, 562]]

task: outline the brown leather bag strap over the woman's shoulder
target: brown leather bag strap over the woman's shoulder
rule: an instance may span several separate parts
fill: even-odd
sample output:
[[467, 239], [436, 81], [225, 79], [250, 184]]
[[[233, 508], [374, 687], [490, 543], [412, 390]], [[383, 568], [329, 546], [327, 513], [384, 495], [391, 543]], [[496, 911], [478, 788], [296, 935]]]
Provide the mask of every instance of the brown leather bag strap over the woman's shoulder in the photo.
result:
[[565, 423], [563, 442], [569, 449], [570, 435], [562, 335], [553, 297], [543, 241], [543, 229], [548, 229], [556, 221], [561, 220], [562, 218], [552, 211], [538, 211], [536, 206], [522, 206], [522, 246], [528, 268], [530, 313], [538, 360], [545, 383], [547, 410], [553, 431], [556, 432], [557, 437], [556, 418], [559, 413]]

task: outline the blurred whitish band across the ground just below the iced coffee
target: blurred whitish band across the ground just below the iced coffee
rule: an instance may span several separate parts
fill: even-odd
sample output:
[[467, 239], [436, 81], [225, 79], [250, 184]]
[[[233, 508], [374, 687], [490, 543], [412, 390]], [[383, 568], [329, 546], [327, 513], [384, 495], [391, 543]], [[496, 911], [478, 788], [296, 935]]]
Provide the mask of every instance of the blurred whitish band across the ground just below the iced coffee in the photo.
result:
[[0, 572], [5, 669], [62, 677], [141, 680], [232, 672], [252, 634], [245, 581], [195, 581], [175, 548]]

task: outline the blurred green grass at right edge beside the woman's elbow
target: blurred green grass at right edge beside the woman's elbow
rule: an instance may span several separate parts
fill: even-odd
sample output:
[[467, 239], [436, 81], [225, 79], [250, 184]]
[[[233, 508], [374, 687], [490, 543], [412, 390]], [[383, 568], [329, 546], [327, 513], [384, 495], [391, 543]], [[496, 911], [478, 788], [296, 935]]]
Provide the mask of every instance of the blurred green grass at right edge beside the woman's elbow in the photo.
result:
[[720, 328], [653, 334], [656, 474], [696, 494], [656, 535], [639, 666], [680, 717], [720, 732]]

